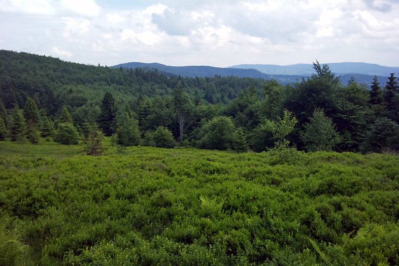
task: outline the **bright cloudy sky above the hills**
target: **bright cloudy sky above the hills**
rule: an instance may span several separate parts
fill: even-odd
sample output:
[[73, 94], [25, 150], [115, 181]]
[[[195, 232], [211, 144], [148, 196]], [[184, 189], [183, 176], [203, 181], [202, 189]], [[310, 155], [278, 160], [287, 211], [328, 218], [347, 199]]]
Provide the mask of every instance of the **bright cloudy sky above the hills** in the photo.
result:
[[399, 0], [0, 0], [0, 49], [113, 66], [399, 66]]

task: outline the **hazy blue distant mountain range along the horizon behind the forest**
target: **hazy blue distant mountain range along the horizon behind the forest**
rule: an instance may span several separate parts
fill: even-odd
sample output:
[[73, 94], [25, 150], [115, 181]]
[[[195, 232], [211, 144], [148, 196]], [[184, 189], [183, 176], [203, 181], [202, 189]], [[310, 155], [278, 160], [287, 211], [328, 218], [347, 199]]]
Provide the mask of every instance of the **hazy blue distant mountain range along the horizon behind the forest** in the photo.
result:
[[[332, 72], [341, 76], [341, 82], [345, 84], [353, 77], [358, 83], [370, 84], [373, 76], [379, 76], [379, 82], [385, 83], [390, 73], [398, 73], [399, 67], [379, 66], [366, 63], [331, 63], [328, 64]], [[297, 64], [289, 66], [278, 65], [237, 65], [229, 67], [213, 66], [166, 66], [158, 63], [131, 62], [112, 66], [115, 68], [146, 68], [157, 69], [166, 74], [171, 73], [183, 77], [213, 77], [237, 76], [262, 79], [275, 79], [282, 84], [295, 83], [302, 77], [308, 77], [314, 73], [312, 64]]]

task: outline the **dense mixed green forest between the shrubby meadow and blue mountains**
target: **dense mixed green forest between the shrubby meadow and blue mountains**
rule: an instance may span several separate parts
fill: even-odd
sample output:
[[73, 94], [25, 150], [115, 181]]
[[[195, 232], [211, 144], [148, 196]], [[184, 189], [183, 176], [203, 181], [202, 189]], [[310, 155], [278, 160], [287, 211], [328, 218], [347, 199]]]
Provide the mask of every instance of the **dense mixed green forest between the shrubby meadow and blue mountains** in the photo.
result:
[[0, 137], [71, 144], [93, 125], [122, 146], [382, 152], [399, 148], [395, 73], [358, 84], [328, 65], [294, 84], [182, 77], [0, 51]]

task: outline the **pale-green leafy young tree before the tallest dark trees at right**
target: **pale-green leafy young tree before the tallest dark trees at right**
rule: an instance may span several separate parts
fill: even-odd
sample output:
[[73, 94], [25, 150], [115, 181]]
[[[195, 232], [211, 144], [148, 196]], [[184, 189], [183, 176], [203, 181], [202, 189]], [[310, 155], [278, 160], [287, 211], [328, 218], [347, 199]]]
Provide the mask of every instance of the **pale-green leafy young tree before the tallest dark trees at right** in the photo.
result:
[[331, 151], [341, 140], [332, 124], [332, 119], [324, 115], [322, 109], [315, 109], [310, 123], [305, 124], [300, 137], [308, 151]]

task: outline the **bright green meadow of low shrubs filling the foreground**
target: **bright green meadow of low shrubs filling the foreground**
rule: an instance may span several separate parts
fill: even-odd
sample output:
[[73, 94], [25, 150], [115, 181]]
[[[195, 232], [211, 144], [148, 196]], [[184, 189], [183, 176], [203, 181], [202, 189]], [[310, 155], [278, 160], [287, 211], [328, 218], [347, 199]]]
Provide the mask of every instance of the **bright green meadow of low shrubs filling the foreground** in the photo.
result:
[[398, 156], [81, 150], [0, 141], [0, 265], [399, 265]]

